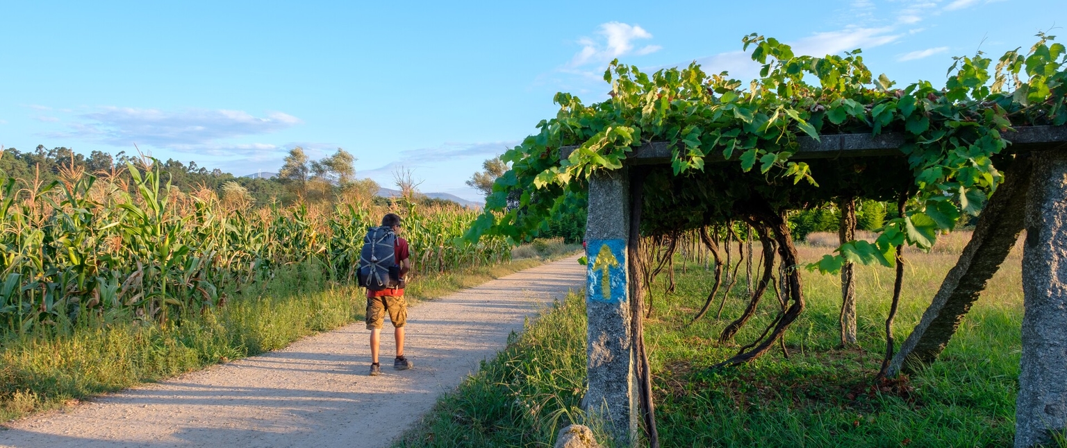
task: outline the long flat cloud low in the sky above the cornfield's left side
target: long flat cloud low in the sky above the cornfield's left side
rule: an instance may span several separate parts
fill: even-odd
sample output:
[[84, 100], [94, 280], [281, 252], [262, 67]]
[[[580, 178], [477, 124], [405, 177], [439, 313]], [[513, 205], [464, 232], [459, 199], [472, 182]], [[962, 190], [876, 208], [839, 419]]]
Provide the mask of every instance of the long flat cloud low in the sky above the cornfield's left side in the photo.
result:
[[54, 137], [75, 137], [107, 145], [133, 144], [177, 151], [207, 153], [257, 152], [278, 149], [276, 145], [230, 144], [226, 139], [266, 134], [299, 125], [288, 114], [273, 112], [256, 117], [243, 111], [190, 109], [177, 112], [156, 109], [100, 107], [78, 115], [68, 130]]

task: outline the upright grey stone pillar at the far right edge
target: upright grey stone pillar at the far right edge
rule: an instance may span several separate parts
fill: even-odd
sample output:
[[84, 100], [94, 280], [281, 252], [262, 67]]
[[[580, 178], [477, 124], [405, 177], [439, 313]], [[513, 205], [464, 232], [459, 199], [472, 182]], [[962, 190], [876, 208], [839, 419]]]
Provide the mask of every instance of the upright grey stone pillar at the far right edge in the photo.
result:
[[1035, 152], [1022, 254], [1022, 361], [1015, 446], [1067, 427], [1067, 151]]

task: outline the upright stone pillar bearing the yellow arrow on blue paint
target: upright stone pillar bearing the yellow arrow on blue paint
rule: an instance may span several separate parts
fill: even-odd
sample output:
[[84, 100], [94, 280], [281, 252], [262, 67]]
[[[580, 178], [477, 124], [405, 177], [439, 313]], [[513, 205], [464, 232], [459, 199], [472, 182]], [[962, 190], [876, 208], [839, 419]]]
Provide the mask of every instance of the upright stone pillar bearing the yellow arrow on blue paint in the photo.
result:
[[586, 353], [590, 416], [609, 426], [618, 446], [638, 441], [640, 405], [634, 375], [626, 240], [630, 234], [630, 179], [625, 169], [589, 180], [586, 223]]

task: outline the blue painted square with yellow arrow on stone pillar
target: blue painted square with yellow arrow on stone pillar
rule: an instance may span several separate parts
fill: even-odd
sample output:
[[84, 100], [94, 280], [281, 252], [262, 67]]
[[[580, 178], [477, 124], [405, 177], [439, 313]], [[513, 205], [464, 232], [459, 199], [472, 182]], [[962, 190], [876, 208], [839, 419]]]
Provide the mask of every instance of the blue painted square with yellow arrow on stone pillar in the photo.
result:
[[626, 300], [626, 240], [590, 239], [586, 244], [586, 300]]

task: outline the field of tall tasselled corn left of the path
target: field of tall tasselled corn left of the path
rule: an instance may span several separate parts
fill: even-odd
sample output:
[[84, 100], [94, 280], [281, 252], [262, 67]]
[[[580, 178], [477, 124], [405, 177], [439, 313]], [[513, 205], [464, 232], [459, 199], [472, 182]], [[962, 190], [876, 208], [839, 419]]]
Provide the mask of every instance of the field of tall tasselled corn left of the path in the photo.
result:
[[0, 176], [0, 333], [69, 326], [86, 314], [173, 319], [224, 305], [225, 291], [291, 264], [354, 283], [363, 236], [387, 212], [403, 217], [416, 271], [510, 256], [500, 238], [458, 244], [477, 217], [460, 206], [254, 209], [243, 198], [173, 188], [158, 163], [128, 165], [128, 172], [70, 168], [50, 184]]

